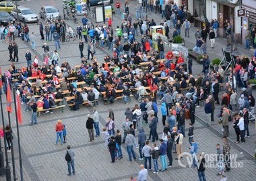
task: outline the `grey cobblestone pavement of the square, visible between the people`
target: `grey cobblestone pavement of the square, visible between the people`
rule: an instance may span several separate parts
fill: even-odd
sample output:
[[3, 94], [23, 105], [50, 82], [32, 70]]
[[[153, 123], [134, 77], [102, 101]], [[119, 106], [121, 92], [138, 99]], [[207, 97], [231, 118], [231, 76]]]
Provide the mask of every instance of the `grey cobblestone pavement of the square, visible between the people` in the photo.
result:
[[[36, 13], [38, 13], [42, 5], [55, 5], [60, 11], [61, 1], [19, 1], [20, 5], [30, 7]], [[124, 5], [124, 1], [121, 1]], [[134, 15], [135, 1], [130, 2], [130, 11]], [[157, 23], [160, 21], [160, 16], [154, 13], [149, 13], [149, 17], [155, 19]], [[133, 16], [134, 17], [134, 16]], [[81, 17], [78, 17], [79, 21]], [[67, 21], [69, 25], [75, 27], [72, 21]], [[120, 25], [121, 19], [114, 15], [114, 27]], [[30, 32], [35, 32], [37, 43], [36, 50], [33, 51], [30, 44], [22, 42], [17, 38], [15, 42], [19, 46], [19, 56], [20, 62], [15, 63], [16, 66], [26, 65], [26, 60], [24, 55], [26, 50], [30, 50], [33, 54], [42, 54], [42, 44], [43, 41], [39, 40], [40, 35], [38, 32], [38, 25], [36, 23], [29, 24]], [[191, 27], [191, 33], [195, 27]], [[172, 30], [171, 30], [172, 32]], [[182, 32], [183, 34], [183, 32]], [[191, 36], [193, 37], [193, 36]], [[185, 38], [186, 46], [188, 48], [193, 48], [194, 38]], [[53, 42], [49, 42], [50, 49], [54, 50]], [[217, 38], [216, 49], [209, 50], [210, 58], [222, 58], [222, 53], [220, 47], [225, 45], [225, 40], [222, 38]], [[210, 46], [210, 45], [208, 45]], [[218, 48], [217, 48], [218, 47]], [[238, 45], [238, 50], [251, 55], [253, 52], [244, 50], [241, 45]], [[2, 70], [9, 67], [7, 44], [0, 42], [1, 60], [0, 65]], [[71, 63], [71, 66], [75, 66], [80, 63], [78, 42], [65, 42], [61, 44], [61, 49], [58, 50], [61, 56], [61, 62], [66, 60]], [[110, 52], [102, 49], [96, 50], [96, 57], [98, 61], [102, 62], [104, 56], [110, 54]], [[194, 74], [201, 72], [201, 65], [196, 62], [193, 64]], [[255, 91], [253, 92], [255, 95]], [[256, 95], [255, 95], [256, 96]], [[108, 117], [108, 108], [113, 109], [115, 112], [115, 123], [118, 129], [121, 129], [121, 123], [123, 122], [125, 115], [125, 109], [127, 107], [133, 107], [137, 101], [131, 99], [129, 105], [124, 105], [122, 101], [115, 101], [113, 105], [104, 106], [102, 101], [99, 105], [95, 107], [100, 113], [100, 128], [104, 127], [106, 117]], [[4, 107], [6, 105], [5, 97], [3, 97]], [[218, 107], [219, 108], [219, 107]], [[160, 110], [160, 109], [159, 109]], [[4, 110], [5, 111], [5, 110]], [[128, 180], [129, 176], [137, 176], [139, 171], [139, 164], [143, 164], [141, 161], [129, 162], [127, 151], [125, 146], [122, 147], [124, 158], [118, 160], [115, 164], [110, 164], [110, 154], [104, 149], [104, 141], [102, 136], [96, 137], [95, 141], [90, 142], [88, 138], [88, 131], [86, 130], [86, 115], [92, 113], [91, 107], [82, 107], [76, 113], [69, 111], [68, 107], [65, 107], [64, 113], [57, 110], [52, 114], [41, 115], [38, 118], [38, 125], [29, 127], [30, 123], [30, 112], [23, 113], [24, 123], [20, 125], [20, 139], [22, 145], [22, 161], [24, 165], [24, 180]], [[216, 110], [215, 116], [218, 114]], [[4, 113], [5, 123], [7, 121], [7, 113]], [[205, 154], [215, 154], [216, 153], [216, 143], [222, 144], [222, 131], [221, 126], [218, 125], [218, 121], [214, 122], [211, 127], [206, 127], [204, 120], [205, 114], [203, 107], [199, 107], [196, 110], [196, 123], [195, 123], [195, 141], [199, 144], [199, 152], [205, 152]], [[158, 113], [160, 117], [160, 122], [162, 115]], [[62, 119], [63, 123], [67, 126], [67, 143], [63, 146], [55, 145], [55, 123], [57, 119]], [[216, 117], [216, 120], [217, 117]], [[189, 121], [186, 121], [186, 128], [189, 127]], [[17, 133], [15, 129], [15, 117], [11, 114], [11, 125], [13, 126], [14, 135], [14, 154], [15, 154], [15, 168], [16, 175], [20, 178], [20, 168], [18, 159], [18, 143], [17, 143]], [[146, 129], [148, 135], [149, 129], [147, 126], [143, 126]], [[158, 133], [162, 134], [162, 125], [158, 125]], [[230, 125], [230, 143], [232, 145], [231, 154], [237, 154], [236, 162], [243, 162], [243, 168], [233, 168], [230, 172], [226, 173], [228, 180], [255, 180], [255, 161], [253, 160], [254, 149], [255, 149], [255, 124], [250, 125], [251, 137], [246, 139], [244, 145], [234, 144], [235, 133]], [[138, 132], [135, 135], [137, 137]], [[186, 129], [187, 134], [187, 129]], [[2, 141], [3, 143], [3, 141]], [[65, 162], [65, 150], [67, 144], [70, 144], [75, 151], [75, 169], [76, 175], [72, 177], [67, 177], [67, 164]], [[189, 152], [189, 142], [188, 138], [185, 137], [183, 141], [183, 152]], [[135, 153], [138, 158], [138, 149], [135, 149]], [[9, 158], [11, 154], [8, 153]], [[176, 158], [176, 155], [173, 155]], [[197, 170], [195, 168], [189, 168], [187, 162], [183, 158], [183, 163], [187, 165], [187, 168], [182, 168], [179, 166], [177, 160], [174, 160], [173, 166], [168, 168], [168, 171], [161, 172], [160, 174], [153, 174], [150, 172], [148, 180], [198, 180]], [[158, 163], [159, 164], [159, 163]], [[12, 168], [12, 166], [11, 166]], [[161, 168], [161, 167], [160, 167]], [[220, 180], [220, 176], [217, 176], [217, 168], [207, 168], [205, 175], [207, 180]], [[0, 177], [0, 180], [5, 180], [5, 178]]]

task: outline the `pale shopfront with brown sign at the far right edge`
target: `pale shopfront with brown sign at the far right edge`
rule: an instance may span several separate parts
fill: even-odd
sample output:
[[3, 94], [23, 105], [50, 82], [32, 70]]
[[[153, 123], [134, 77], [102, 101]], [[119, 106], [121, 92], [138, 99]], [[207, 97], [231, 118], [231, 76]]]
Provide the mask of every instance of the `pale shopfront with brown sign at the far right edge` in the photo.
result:
[[[256, 27], [256, 3], [253, 0], [243, 1], [243, 9], [245, 14], [242, 17], [242, 36], [243, 44], [245, 44], [245, 32], [249, 28], [252, 31], [253, 27]], [[253, 46], [253, 39], [251, 40], [251, 46]]]

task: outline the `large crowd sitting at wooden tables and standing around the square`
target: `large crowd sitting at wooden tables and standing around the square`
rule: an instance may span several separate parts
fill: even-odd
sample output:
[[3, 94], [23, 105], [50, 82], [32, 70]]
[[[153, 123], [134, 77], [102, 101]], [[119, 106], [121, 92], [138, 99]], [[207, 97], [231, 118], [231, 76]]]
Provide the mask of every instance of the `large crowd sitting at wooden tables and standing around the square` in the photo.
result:
[[[76, 29], [80, 40], [81, 64], [78, 70], [72, 68], [69, 62], [59, 63], [61, 62], [61, 55], [58, 54], [57, 50], [61, 48], [60, 42], [65, 42], [66, 32], [73, 34], [73, 29], [66, 27], [65, 21], [61, 20], [47, 23], [44, 27], [42, 23], [39, 25], [40, 33], [42, 32], [41, 39], [44, 40], [44, 32], [46, 42], [52, 40], [55, 42], [55, 50], [50, 50], [48, 44], [44, 43], [42, 45], [43, 60], [38, 61], [38, 56], [35, 56], [33, 63], [31, 52], [28, 50], [24, 55], [27, 66], [18, 68], [12, 63], [9, 70], [3, 73], [3, 91], [6, 93], [7, 80], [11, 82], [13, 78], [15, 88], [18, 88], [21, 93], [20, 98], [22, 104], [25, 105], [25, 111], [32, 109], [30, 125], [37, 123], [38, 108], [42, 107], [46, 110], [45, 113], [48, 113], [49, 108], [56, 106], [55, 99], [65, 99], [67, 95], [73, 96], [73, 110], [78, 111], [84, 101], [97, 101], [98, 104], [98, 102], [101, 103], [98, 100], [102, 95], [105, 104], [108, 102], [113, 104], [120, 94], [123, 102], [129, 105], [125, 111], [125, 121], [122, 123], [123, 130], [115, 129], [114, 112], [109, 110], [108, 120], [102, 129], [104, 147], [109, 150], [112, 163], [123, 158], [122, 143], [125, 144], [130, 162], [132, 162], [132, 158], [137, 160], [133, 147], [138, 147], [139, 160], [144, 160], [144, 164], [140, 166], [141, 171], [138, 180], [147, 179], [148, 171], [153, 169], [152, 162], [154, 174], [158, 174], [160, 170], [158, 169], [158, 158], [160, 158], [161, 163], [160, 171], [168, 170], [168, 166], [172, 166], [172, 151], [177, 154], [176, 160], [181, 159], [183, 138], [187, 135], [191, 155], [197, 155], [198, 145], [193, 139], [193, 127], [195, 125], [195, 109], [200, 107], [202, 103], [204, 103], [207, 126], [216, 121], [214, 120], [215, 109], [219, 108], [216, 107], [217, 105], [221, 105], [221, 108], [218, 109], [220, 111], [218, 115], [221, 117], [219, 123], [223, 125], [224, 145], [219, 154], [225, 156], [230, 154], [228, 139], [226, 139], [230, 132], [228, 128], [230, 121], [232, 121], [237, 136], [236, 143], [245, 143], [245, 137], [249, 137], [249, 113], [253, 115], [255, 109], [255, 98], [248, 80], [255, 78], [256, 55], [251, 56], [251, 59], [246, 56], [236, 56], [233, 76], [231, 68], [228, 73], [224, 72], [222, 66], [210, 69], [210, 59], [206, 54], [206, 49], [203, 48], [205, 47], [203, 44], [206, 44], [208, 33], [210, 33], [211, 47], [214, 48], [214, 41], [217, 37], [216, 29], [218, 29], [218, 22], [215, 19], [209, 25], [207, 24], [207, 27], [203, 27], [201, 31], [197, 29], [195, 32], [197, 42], [194, 50], [201, 53], [202, 48], [205, 55], [203, 56], [203, 70], [194, 78], [191, 58], [173, 56], [170, 52], [164, 52], [161, 38], [158, 39], [157, 50], [152, 49], [152, 34], [149, 30], [151, 26], [157, 23], [154, 19], [146, 19], [146, 16], [143, 16], [145, 11], [160, 13], [162, 17], [165, 17], [160, 25], [164, 26], [166, 32], [169, 32], [172, 21], [174, 26], [172, 38], [181, 35], [181, 28], [183, 27], [185, 28], [185, 35], [189, 37], [191, 14], [185, 6], [177, 7], [175, 3], [172, 5], [170, 1], [162, 0], [148, 1], [147, 6], [144, 1], [139, 1], [135, 7], [135, 20], [129, 13], [128, 2], [125, 3], [125, 13], [121, 13], [119, 1], [115, 2], [115, 7], [122, 18], [122, 23], [117, 26], [117, 29], [113, 28], [112, 19], [108, 19], [108, 22], [102, 25], [93, 24], [88, 21], [87, 15], [84, 15], [82, 25], [73, 28]], [[29, 35], [28, 25], [22, 27], [16, 23], [9, 26], [11, 32], [11, 36], [8, 36], [10, 37], [9, 41], [11, 41], [8, 47], [9, 61], [14, 62], [16, 58], [18, 62], [18, 46], [13, 42], [15, 40], [13, 27], [18, 29], [17, 36], [21, 36], [22, 40], [32, 42], [33, 50], [35, 50], [36, 40], [32, 35], [32, 38]], [[228, 23], [227, 29], [230, 29]], [[140, 41], [139, 35], [141, 35]], [[167, 33], [166, 36], [169, 37], [169, 34]], [[83, 53], [84, 44], [88, 45], [87, 58]], [[113, 56], [105, 56], [104, 62], [100, 64], [102, 61], [98, 61], [94, 56], [97, 46], [98, 48], [108, 48], [113, 52]], [[13, 52], [14, 55], [12, 55]], [[149, 64], [141, 66], [141, 62], [149, 62]], [[35, 78], [35, 84], [31, 84], [31, 77]], [[68, 80], [68, 78], [75, 79]], [[43, 83], [44, 80], [46, 83]], [[86, 86], [79, 89], [76, 82], [83, 81]], [[242, 93], [238, 95], [240, 88]], [[66, 90], [69, 90], [67, 95], [63, 93]], [[118, 92], [120, 90], [121, 92]], [[132, 93], [142, 96], [142, 99], [141, 103], [130, 108]], [[219, 101], [220, 97], [221, 101]], [[158, 101], [161, 103], [160, 110]], [[51, 113], [53, 112], [51, 111]], [[160, 113], [162, 115], [161, 124], [164, 127], [162, 135], [157, 133], [161, 119]], [[185, 133], [186, 119], [190, 120], [188, 133]], [[150, 127], [149, 133], [143, 129], [145, 126]], [[96, 109], [94, 109], [93, 115], [88, 115], [86, 128], [90, 141], [94, 141], [95, 137], [100, 135], [99, 115]], [[95, 137], [94, 129], [96, 131]], [[136, 141], [135, 131], [137, 130], [139, 133]], [[7, 128], [5, 128], [6, 131], [8, 132]], [[245, 135], [246, 131], [247, 135]], [[56, 133], [56, 144], [59, 138], [61, 145], [65, 143], [66, 129], [61, 120], [56, 125]], [[8, 140], [11, 141], [11, 137]], [[160, 143], [156, 143], [158, 140]], [[217, 149], [220, 149], [220, 145], [217, 145]], [[71, 154], [73, 160], [74, 153], [71, 152]], [[167, 159], [169, 164], [167, 164]], [[67, 162], [69, 162], [69, 175], [71, 175], [70, 166], [72, 166], [73, 174], [75, 174], [72, 161]], [[197, 167], [197, 163], [201, 163], [198, 166], [199, 179], [205, 180], [203, 162], [197, 162], [196, 157], [194, 157], [193, 166]], [[226, 169], [223, 168], [219, 172], [222, 177], [224, 177], [225, 170], [230, 170], [228, 164], [226, 164]]]

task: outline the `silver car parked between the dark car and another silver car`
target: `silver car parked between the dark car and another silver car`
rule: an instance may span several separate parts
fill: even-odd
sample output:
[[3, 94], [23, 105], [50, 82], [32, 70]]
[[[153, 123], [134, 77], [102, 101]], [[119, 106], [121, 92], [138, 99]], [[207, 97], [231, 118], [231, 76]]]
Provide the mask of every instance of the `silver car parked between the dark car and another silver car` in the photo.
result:
[[19, 6], [17, 9], [13, 9], [11, 11], [11, 15], [24, 23], [37, 22], [39, 17], [34, 11], [29, 9], [28, 7]]

